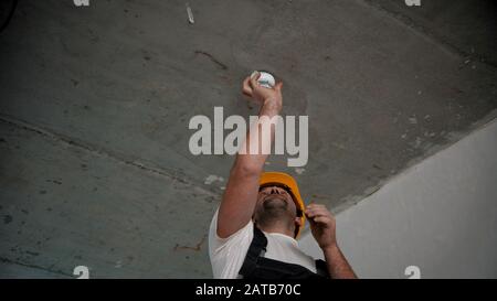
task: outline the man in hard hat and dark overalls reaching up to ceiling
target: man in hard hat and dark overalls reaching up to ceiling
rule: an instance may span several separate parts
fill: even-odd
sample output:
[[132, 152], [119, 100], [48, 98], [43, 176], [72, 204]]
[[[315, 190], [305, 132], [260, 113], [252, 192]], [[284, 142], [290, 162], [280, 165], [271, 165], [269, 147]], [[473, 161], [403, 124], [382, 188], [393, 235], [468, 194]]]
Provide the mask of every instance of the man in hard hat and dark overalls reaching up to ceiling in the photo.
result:
[[[236, 155], [210, 227], [213, 275], [244, 279], [356, 278], [338, 247], [329, 211], [318, 204], [305, 206], [290, 175], [263, 173], [267, 152], [261, 148], [271, 147], [274, 140], [271, 118], [282, 110], [283, 83], [267, 88], [257, 78], [257, 74], [245, 78], [243, 94], [261, 105], [260, 121], [247, 132], [241, 148], [245, 151]], [[254, 144], [258, 151], [251, 152]], [[326, 262], [298, 248], [296, 238], [306, 217]]]

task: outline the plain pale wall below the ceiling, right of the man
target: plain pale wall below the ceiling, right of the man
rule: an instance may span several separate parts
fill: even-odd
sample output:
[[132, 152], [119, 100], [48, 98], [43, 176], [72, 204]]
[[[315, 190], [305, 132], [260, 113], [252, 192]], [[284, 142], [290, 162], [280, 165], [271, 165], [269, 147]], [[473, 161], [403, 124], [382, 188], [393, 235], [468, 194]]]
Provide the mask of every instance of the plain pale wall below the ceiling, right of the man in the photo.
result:
[[[359, 277], [497, 278], [497, 120], [337, 215]], [[300, 247], [321, 257], [307, 232]]]

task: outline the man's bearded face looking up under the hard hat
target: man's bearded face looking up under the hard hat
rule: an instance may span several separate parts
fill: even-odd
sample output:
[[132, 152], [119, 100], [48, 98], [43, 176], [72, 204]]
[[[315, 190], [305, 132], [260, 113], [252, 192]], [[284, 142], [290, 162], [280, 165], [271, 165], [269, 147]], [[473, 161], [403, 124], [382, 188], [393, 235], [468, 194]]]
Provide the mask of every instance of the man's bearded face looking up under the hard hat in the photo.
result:
[[294, 217], [297, 216], [297, 207], [292, 195], [278, 186], [267, 186], [258, 192], [255, 213], [261, 211], [286, 212]]

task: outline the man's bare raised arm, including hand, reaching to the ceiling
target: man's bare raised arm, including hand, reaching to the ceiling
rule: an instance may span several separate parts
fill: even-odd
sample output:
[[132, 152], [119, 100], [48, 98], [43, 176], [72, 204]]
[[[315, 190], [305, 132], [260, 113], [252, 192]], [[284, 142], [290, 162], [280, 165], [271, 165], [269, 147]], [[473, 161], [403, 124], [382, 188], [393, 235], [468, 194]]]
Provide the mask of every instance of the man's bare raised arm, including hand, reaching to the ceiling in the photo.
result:
[[[218, 214], [218, 236], [229, 237], [252, 218], [258, 195], [258, 179], [274, 140], [273, 117], [282, 110], [282, 87], [262, 87], [258, 75], [243, 82], [243, 94], [261, 105], [258, 122], [251, 126], [245, 142], [236, 154]], [[263, 130], [269, 129], [269, 130]], [[263, 152], [262, 149], [269, 151]]]

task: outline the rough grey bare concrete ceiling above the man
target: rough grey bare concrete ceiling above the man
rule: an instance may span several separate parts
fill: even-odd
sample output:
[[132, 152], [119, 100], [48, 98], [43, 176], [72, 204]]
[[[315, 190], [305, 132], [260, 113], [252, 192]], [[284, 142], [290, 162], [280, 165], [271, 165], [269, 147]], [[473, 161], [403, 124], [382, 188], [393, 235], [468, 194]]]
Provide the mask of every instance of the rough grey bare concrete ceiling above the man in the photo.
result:
[[188, 122], [255, 115], [253, 69], [309, 116], [308, 164], [267, 169], [334, 212], [496, 116], [491, 1], [189, 2], [194, 24], [184, 1], [19, 2], [0, 33], [0, 277], [211, 277], [233, 158], [192, 155]]

